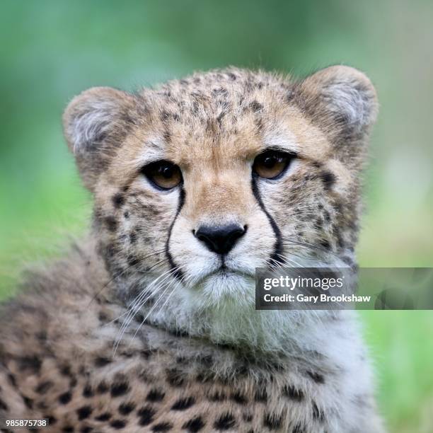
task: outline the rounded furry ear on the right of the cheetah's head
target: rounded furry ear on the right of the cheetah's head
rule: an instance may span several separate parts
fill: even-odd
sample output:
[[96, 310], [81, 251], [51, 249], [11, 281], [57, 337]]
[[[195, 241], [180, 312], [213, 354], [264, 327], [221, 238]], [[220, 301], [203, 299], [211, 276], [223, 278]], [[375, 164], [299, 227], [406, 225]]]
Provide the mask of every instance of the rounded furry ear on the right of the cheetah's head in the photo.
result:
[[293, 98], [335, 144], [364, 144], [378, 111], [365, 74], [345, 66], [322, 69], [296, 83]]

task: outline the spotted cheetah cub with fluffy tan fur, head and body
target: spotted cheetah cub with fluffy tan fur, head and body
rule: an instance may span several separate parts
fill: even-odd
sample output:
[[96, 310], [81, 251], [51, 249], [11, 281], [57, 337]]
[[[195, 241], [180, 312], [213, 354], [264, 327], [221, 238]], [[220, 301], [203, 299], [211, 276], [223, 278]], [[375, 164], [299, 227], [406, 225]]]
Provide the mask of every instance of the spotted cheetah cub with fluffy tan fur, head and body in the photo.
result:
[[369, 79], [342, 66], [74, 98], [64, 134], [93, 222], [2, 306], [0, 418], [382, 432], [352, 312], [255, 311], [256, 267], [354, 265], [376, 110]]

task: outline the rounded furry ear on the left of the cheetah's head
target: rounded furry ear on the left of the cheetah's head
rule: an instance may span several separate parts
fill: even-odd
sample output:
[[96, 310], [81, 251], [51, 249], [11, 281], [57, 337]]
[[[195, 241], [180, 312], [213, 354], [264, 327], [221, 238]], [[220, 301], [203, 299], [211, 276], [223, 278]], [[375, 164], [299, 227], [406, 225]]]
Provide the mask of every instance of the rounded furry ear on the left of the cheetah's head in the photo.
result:
[[125, 139], [133, 106], [129, 93], [94, 87], [72, 99], [64, 111], [64, 137], [89, 190]]

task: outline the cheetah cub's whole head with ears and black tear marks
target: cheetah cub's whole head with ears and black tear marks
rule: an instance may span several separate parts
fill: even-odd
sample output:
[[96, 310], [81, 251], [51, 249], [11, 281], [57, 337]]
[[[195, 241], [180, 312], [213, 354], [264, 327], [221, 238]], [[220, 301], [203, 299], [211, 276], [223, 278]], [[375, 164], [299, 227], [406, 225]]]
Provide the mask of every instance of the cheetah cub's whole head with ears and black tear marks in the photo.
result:
[[135, 94], [93, 88], [64, 130], [120, 291], [216, 306], [253, 303], [256, 267], [352, 259], [375, 116], [355, 69], [296, 82], [229, 69]]

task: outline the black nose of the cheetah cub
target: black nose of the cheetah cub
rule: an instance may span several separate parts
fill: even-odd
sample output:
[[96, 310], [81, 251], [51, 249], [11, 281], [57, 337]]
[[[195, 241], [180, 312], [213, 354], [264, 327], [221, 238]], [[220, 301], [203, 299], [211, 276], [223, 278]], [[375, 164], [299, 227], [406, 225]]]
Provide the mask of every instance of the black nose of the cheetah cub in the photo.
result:
[[238, 238], [246, 233], [247, 226], [228, 224], [226, 226], [201, 226], [194, 232], [195, 237], [209, 250], [217, 254], [227, 254]]

